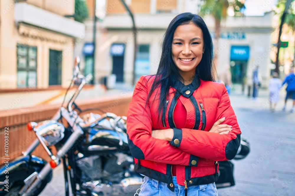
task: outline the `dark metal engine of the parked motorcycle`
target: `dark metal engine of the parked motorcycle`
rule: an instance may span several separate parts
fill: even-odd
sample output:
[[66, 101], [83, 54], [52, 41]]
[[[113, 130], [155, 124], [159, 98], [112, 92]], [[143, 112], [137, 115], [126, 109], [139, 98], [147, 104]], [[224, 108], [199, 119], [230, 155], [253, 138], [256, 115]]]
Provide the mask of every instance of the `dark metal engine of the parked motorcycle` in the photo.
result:
[[84, 175], [91, 180], [109, 178], [119, 173], [124, 174], [126, 166], [132, 163], [133, 158], [123, 154], [114, 153], [108, 156], [93, 155], [76, 161], [77, 166]]

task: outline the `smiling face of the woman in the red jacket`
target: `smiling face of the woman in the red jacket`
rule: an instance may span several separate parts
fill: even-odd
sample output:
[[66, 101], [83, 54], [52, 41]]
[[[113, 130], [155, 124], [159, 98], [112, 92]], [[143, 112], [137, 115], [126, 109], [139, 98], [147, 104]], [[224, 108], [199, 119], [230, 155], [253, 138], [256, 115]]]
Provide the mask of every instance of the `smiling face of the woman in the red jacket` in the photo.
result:
[[172, 58], [179, 73], [195, 75], [204, 51], [202, 30], [194, 23], [180, 25], [176, 28], [172, 41]]

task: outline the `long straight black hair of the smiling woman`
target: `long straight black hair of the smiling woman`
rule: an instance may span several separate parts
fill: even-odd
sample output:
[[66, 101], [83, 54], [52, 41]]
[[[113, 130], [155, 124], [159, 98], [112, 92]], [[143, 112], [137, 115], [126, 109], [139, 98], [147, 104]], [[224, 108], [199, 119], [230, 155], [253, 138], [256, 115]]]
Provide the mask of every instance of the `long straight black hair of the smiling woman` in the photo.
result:
[[[169, 24], [163, 39], [162, 55], [158, 67], [158, 71], [155, 76], [155, 80], [151, 86], [151, 90], [148, 93], [148, 99], [152, 95], [153, 91], [160, 87], [160, 104], [158, 111], [163, 111], [166, 108], [166, 97], [168, 96], [171, 86], [175, 86], [178, 81], [184, 81], [183, 77], [178, 72], [178, 69], [172, 58], [172, 41], [174, 31], [179, 25], [189, 24], [193, 22], [203, 32], [204, 39], [204, 54], [198, 66], [196, 67], [196, 76], [202, 80], [214, 81], [215, 74], [213, 73], [213, 43], [207, 25], [204, 20], [197, 14], [189, 12], [178, 14]], [[160, 113], [159, 113], [160, 116]]]

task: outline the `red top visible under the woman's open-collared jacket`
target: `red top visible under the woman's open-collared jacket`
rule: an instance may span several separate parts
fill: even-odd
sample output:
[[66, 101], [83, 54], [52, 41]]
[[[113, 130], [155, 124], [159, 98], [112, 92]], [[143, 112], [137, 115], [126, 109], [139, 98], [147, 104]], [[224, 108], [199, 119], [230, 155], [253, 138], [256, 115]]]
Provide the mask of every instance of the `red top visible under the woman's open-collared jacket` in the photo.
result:
[[[173, 116], [173, 120], [176, 125], [176, 128], [178, 129], [184, 128], [186, 123], [186, 115], [187, 115], [186, 109], [178, 98], [176, 106], [175, 106], [175, 110], [174, 110], [174, 116]], [[176, 165], [172, 165], [172, 175], [176, 176]]]

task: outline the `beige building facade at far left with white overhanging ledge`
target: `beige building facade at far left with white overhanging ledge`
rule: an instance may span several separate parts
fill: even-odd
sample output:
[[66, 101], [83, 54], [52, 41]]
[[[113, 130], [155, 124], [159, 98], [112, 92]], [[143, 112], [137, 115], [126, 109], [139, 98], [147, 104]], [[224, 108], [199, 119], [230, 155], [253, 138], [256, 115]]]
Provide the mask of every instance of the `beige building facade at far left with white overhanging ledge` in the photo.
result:
[[0, 1], [0, 89], [66, 87], [73, 51], [85, 37], [75, 1]]

